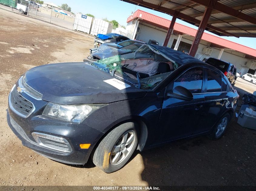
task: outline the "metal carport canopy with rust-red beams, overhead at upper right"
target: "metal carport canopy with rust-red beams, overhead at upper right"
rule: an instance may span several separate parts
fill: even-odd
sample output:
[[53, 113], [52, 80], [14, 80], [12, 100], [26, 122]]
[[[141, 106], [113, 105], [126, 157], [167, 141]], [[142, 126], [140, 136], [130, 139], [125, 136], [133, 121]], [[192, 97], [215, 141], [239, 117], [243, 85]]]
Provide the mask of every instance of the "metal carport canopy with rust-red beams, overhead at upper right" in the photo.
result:
[[[195, 55], [204, 30], [219, 36], [256, 37], [256, 0], [121, 1], [172, 15], [173, 22], [178, 18], [198, 26], [189, 52], [191, 56]], [[170, 25], [169, 31], [173, 26], [174, 23]]]

